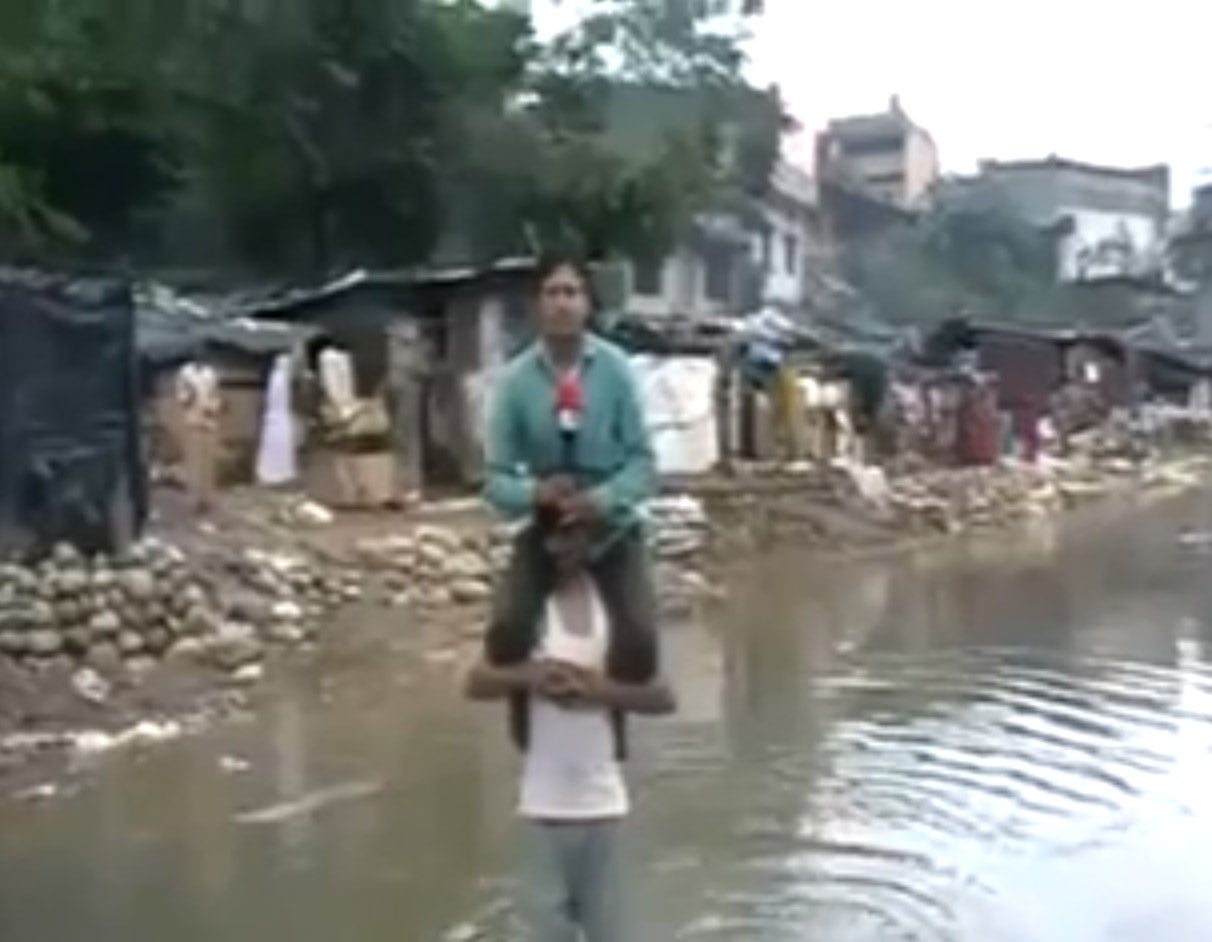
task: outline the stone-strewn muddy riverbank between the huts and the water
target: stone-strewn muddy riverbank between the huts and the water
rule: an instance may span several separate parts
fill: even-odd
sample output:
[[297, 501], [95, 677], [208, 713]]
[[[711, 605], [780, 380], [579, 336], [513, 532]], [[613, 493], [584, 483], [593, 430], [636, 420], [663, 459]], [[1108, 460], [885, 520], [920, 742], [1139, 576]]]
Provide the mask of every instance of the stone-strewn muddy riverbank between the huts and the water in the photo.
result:
[[[1011, 530], [1127, 495], [1189, 490], [1204, 455], [1090, 451], [1037, 467], [902, 473], [742, 468], [667, 481], [651, 529], [662, 606], [711, 604], [728, 570], [778, 546], [859, 554]], [[274, 674], [390, 639], [474, 644], [509, 532], [475, 501], [336, 514], [236, 491], [202, 524], [160, 495], [153, 536], [119, 559], [61, 548], [0, 567], [0, 775], [105, 752], [252, 708]], [[457, 652], [456, 652], [457, 653]], [[446, 655], [444, 655], [446, 656]]]

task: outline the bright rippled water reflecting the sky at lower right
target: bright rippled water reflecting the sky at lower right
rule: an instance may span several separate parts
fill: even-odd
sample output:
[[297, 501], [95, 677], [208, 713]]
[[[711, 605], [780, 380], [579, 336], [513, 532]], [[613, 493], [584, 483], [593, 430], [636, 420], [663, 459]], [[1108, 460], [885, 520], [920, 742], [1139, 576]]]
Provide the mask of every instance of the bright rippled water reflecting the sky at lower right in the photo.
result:
[[[1173, 828], [1199, 801], [1178, 784], [1183, 757], [1212, 765], [1204, 664], [1001, 649], [870, 657], [817, 678], [808, 709], [829, 717], [817, 748], [801, 738], [811, 730], [743, 744], [761, 766], [738, 782], [744, 812], [726, 829], [734, 860], [718, 879], [730, 891], [709, 894], [678, 938], [807, 937], [789, 929], [797, 919], [814, 938], [967, 938], [965, 918], [1000, 904], [1000, 870]], [[670, 777], [684, 758], [662, 764]]]

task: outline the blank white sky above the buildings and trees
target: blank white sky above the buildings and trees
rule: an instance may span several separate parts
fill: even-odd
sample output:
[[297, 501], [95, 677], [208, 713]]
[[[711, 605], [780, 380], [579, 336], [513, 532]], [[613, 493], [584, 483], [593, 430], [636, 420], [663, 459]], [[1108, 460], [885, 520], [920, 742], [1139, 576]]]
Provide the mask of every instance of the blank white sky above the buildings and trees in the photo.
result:
[[[541, 29], [551, 0], [534, 0]], [[565, 0], [562, 16], [576, 0]], [[753, 79], [777, 82], [806, 139], [892, 93], [945, 171], [981, 158], [1167, 162], [1172, 200], [1212, 179], [1212, 2], [766, 0]]]

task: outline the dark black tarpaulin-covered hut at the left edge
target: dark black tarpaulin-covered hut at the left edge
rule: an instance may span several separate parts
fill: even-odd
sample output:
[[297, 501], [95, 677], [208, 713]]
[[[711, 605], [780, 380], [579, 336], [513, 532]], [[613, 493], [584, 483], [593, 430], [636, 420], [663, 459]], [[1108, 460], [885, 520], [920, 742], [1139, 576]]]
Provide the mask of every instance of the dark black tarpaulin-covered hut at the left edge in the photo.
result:
[[0, 553], [120, 550], [145, 516], [128, 284], [0, 272]]

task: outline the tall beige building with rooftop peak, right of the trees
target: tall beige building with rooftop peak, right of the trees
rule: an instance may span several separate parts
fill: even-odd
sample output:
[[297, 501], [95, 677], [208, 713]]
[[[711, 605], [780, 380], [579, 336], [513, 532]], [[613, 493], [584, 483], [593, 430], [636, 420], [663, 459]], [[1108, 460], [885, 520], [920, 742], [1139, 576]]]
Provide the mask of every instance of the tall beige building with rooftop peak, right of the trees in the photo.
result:
[[938, 179], [938, 148], [896, 96], [880, 114], [839, 118], [817, 136], [817, 175], [887, 202], [915, 209]]

